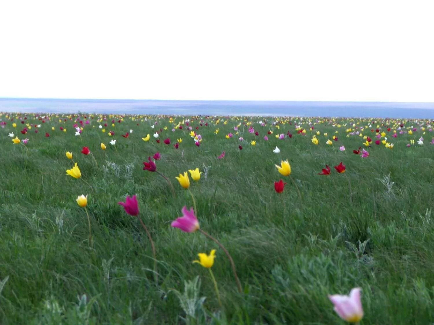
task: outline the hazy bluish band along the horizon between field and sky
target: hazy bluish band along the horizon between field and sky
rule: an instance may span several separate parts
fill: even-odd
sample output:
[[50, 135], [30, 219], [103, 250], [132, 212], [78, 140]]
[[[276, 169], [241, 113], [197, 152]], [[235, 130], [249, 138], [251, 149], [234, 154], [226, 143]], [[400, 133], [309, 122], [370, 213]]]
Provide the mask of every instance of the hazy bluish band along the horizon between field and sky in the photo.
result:
[[434, 103], [0, 98], [3, 112], [434, 119]]

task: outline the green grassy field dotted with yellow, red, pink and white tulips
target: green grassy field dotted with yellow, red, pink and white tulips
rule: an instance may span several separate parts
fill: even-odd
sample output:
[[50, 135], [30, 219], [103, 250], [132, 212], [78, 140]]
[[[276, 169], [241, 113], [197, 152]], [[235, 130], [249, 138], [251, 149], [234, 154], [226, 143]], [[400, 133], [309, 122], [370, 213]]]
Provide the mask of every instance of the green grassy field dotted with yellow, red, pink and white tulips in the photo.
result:
[[434, 322], [433, 120], [0, 119], [1, 324]]

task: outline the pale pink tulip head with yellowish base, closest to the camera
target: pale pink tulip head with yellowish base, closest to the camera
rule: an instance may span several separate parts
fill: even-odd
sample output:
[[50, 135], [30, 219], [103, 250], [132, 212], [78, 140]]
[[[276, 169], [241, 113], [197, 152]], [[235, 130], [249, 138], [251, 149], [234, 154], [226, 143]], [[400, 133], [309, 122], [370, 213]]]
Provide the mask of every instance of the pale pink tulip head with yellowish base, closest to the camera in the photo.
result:
[[350, 323], [357, 323], [363, 318], [362, 301], [360, 299], [360, 288], [351, 290], [350, 295], [332, 295], [330, 301], [335, 305], [335, 312], [343, 320]]

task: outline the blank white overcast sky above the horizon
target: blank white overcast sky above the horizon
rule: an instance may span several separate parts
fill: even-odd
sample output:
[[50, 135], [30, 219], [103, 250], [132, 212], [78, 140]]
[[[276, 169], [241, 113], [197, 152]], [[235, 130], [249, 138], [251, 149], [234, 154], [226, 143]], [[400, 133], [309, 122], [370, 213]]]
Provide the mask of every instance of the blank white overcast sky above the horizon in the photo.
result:
[[0, 3], [0, 97], [434, 102], [433, 1]]

